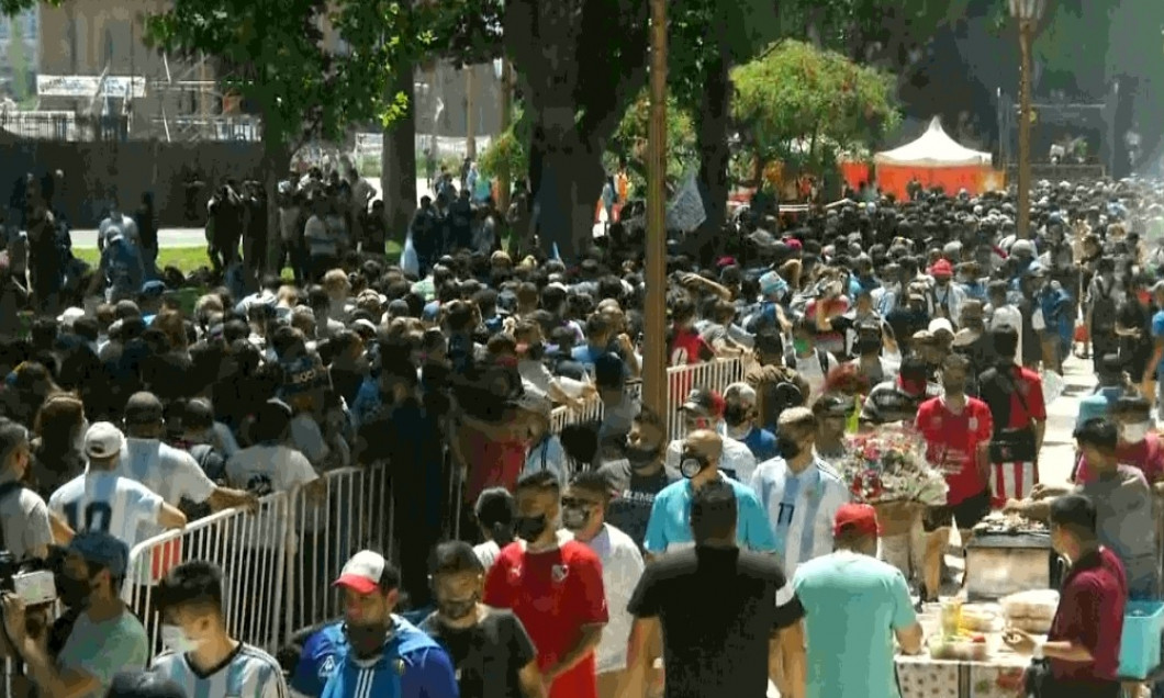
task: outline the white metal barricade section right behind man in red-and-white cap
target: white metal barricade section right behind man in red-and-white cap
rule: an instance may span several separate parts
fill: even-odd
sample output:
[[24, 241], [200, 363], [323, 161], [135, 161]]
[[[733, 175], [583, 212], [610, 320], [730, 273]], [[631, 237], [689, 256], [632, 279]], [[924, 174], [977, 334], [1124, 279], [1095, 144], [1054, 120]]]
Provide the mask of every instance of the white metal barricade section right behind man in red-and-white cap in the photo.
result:
[[289, 633], [340, 615], [343, 608], [332, 581], [349, 557], [372, 549], [396, 558], [396, 507], [388, 470], [379, 464], [345, 468], [328, 472], [322, 483], [318, 492], [297, 487], [290, 498], [299, 544], [286, 556], [284, 627]]

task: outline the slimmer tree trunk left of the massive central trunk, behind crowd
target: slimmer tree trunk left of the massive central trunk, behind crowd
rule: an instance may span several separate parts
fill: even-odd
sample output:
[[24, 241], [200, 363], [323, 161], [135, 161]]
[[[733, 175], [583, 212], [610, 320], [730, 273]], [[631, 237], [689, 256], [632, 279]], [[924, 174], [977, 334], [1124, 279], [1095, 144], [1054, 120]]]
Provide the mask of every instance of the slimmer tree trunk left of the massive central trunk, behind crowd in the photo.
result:
[[404, 93], [407, 112], [384, 130], [379, 159], [379, 186], [384, 197], [384, 223], [388, 238], [404, 244], [409, 223], [417, 209], [417, 108], [412, 65], [402, 65], [388, 87], [389, 95]]

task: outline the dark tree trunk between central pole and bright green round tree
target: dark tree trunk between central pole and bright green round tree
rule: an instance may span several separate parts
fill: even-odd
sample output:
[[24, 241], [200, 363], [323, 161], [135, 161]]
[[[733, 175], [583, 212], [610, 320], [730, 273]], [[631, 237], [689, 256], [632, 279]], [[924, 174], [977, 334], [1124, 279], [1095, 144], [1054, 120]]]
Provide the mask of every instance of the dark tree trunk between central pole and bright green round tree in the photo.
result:
[[697, 249], [702, 252], [718, 237], [728, 220], [728, 130], [731, 127], [731, 65], [726, 51], [708, 69], [708, 81], [696, 123], [696, 145], [700, 149], [700, 194], [707, 220], [696, 233]]

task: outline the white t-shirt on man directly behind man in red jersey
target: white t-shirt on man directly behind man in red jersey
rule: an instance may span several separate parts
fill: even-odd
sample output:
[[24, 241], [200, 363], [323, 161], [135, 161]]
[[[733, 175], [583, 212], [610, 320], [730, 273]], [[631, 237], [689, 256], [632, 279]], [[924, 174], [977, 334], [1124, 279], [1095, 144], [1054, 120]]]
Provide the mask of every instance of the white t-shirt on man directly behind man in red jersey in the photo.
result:
[[631, 636], [634, 617], [627, 611], [631, 594], [643, 576], [643, 554], [631, 536], [610, 524], [587, 542], [602, 561], [602, 585], [606, 590], [610, 619], [602, 631], [595, 650], [597, 672], [619, 671], [626, 668], [626, 641]]

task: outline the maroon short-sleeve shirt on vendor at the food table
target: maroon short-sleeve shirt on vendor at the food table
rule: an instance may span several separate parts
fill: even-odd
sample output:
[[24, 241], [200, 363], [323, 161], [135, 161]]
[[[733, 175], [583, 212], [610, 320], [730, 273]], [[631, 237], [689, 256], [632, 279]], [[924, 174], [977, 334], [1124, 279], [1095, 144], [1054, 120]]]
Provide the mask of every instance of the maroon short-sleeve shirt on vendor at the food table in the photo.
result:
[[1120, 638], [1128, 584], [1120, 558], [1106, 548], [1076, 561], [1063, 581], [1059, 607], [1046, 640], [1078, 643], [1092, 655], [1092, 662], [1051, 658], [1056, 679], [1110, 682], [1120, 667]]

